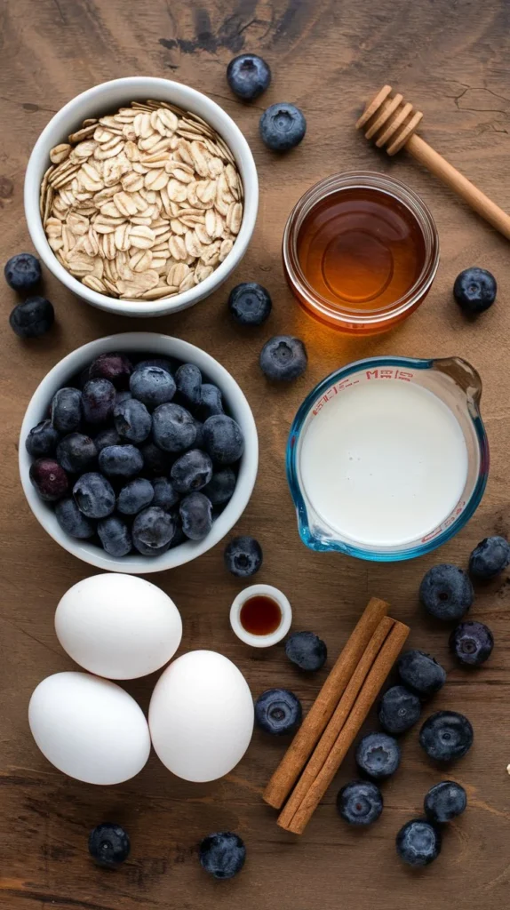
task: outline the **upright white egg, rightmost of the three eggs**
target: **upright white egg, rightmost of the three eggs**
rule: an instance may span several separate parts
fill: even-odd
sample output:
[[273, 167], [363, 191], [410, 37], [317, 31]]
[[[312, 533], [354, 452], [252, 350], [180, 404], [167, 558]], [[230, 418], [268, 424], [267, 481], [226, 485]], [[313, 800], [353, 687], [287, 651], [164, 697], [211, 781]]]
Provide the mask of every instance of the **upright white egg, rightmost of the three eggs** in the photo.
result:
[[161, 674], [149, 708], [155, 751], [186, 781], [214, 781], [241, 761], [254, 729], [252, 695], [235, 663], [191, 651]]

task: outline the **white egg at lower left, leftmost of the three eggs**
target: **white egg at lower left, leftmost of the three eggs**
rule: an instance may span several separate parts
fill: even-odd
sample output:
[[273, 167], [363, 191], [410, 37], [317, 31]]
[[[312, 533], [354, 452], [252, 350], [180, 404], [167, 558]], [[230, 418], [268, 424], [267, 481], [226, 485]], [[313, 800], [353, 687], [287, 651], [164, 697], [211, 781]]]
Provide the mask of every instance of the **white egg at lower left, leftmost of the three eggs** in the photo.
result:
[[86, 784], [121, 784], [149, 757], [149, 728], [135, 699], [89, 673], [55, 673], [39, 682], [28, 723], [48, 762]]

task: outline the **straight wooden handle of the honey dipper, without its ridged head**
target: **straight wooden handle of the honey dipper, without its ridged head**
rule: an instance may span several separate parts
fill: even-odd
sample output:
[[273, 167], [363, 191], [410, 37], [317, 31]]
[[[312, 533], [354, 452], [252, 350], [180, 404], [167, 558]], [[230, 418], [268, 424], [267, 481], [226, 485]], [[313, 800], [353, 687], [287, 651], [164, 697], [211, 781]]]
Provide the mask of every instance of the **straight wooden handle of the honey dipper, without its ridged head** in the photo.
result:
[[485, 193], [477, 189], [442, 155], [435, 152], [434, 148], [430, 147], [420, 136], [415, 135], [407, 140], [405, 150], [436, 177], [439, 177], [447, 187], [451, 187], [455, 193], [462, 196], [468, 205], [475, 209], [475, 212], [478, 212], [485, 218], [485, 221], [488, 221], [510, 240], [510, 216], [503, 211], [503, 208], [496, 206], [492, 199], [486, 197]]

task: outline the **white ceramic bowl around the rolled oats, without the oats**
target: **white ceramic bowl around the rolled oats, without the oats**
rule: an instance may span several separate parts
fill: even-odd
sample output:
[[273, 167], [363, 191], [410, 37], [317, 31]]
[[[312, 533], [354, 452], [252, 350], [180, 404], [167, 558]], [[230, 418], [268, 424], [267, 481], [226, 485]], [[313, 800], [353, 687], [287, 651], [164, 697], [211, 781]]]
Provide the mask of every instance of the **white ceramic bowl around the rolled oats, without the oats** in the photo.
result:
[[[166, 101], [192, 111], [213, 126], [217, 133], [225, 139], [243, 178], [245, 210], [243, 224], [234, 248], [209, 278], [205, 278], [205, 281], [201, 281], [195, 288], [186, 290], [183, 294], [177, 294], [175, 297], [140, 303], [98, 294], [97, 291], [86, 288], [81, 281], [66, 271], [47, 242], [39, 213], [39, 195], [41, 181], [50, 164], [51, 148], [60, 142], [67, 142], [67, 136], [75, 132], [86, 117], [112, 113], [121, 105], [128, 105], [131, 101], [145, 101], [147, 98]], [[168, 79], [130, 76], [126, 79], [104, 82], [99, 86], [87, 89], [86, 92], [69, 101], [45, 126], [35, 143], [26, 168], [25, 217], [35, 249], [46, 268], [49, 268], [55, 278], [58, 278], [66, 288], [72, 290], [77, 297], [83, 298], [93, 307], [105, 309], [110, 313], [119, 313], [122, 316], [163, 316], [165, 313], [175, 313], [179, 309], [192, 307], [199, 300], [212, 294], [224, 283], [244, 257], [254, 231], [257, 207], [258, 180], [255, 161], [239, 127], [219, 105], [216, 105], [202, 92], [197, 92], [189, 86], [182, 86], [178, 82], [170, 82]]]

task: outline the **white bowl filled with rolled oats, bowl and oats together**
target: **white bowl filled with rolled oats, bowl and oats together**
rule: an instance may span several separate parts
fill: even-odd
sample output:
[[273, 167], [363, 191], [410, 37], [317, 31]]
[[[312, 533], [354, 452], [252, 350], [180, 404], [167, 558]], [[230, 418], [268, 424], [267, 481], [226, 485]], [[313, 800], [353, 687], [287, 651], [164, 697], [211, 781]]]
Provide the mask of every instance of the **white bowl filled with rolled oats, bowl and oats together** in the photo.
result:
[[162, 316], [219, 288], [245, 255], [255, 162], [225, 111], [134, 76], [65, 105], [37, 140], [25, 216], [47, 268], [92, 306]]

